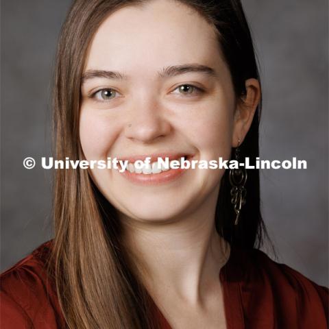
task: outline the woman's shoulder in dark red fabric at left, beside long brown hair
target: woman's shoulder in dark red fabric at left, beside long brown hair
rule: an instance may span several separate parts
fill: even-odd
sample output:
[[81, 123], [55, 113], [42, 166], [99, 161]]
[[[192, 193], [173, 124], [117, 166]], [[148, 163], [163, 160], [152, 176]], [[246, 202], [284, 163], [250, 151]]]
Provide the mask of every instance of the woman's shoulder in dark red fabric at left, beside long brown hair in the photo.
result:
[[47, 271], [50, 253], [51, 241], [1, 274], [1, 328], [59, 328], [60, 306]]

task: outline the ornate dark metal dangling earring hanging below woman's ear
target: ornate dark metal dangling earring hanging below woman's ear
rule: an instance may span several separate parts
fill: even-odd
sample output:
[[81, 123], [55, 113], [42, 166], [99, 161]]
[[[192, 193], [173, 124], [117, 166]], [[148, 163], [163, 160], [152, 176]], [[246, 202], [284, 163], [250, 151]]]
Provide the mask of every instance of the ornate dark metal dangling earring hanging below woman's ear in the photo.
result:
[[[234, 152], [234, 160], [239, 162], [239, 145], [240, 139], [238, 141], [238, 146]], [[234, 212], [236, 213], [236, 218], [234, 225], [238, 225], [239, 216], [242, 206], [245, 204], [245, 197], [247, 195], [247, 190], [245, 189], [245, 182], [247, 181], [247, 171], [245, 168], [241, 169], [230, 169], [230, 184], [231, 188], [231, 203], [234, 205]]]

